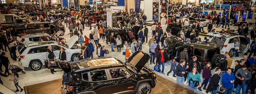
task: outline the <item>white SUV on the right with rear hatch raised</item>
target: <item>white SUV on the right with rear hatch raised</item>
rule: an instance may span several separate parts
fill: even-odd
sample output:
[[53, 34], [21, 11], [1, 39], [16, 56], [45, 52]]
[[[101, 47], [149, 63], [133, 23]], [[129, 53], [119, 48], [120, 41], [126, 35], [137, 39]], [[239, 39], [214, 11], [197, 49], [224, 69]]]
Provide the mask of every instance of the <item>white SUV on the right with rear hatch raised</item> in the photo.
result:
[[238, 52], [245, 53], [250, 49], [250, 43], [247, 43], [247, 40], [240, 35], [222, 34], [216, 32], [207, 33], [207, 35], [210, 36], [211, 44], [216, 44], [220, 46], [222, 55], [225, 55], [225, 52], [229, 52], [230, 57], [234, 56], [234, 38], [239, 38], [240, 40]]

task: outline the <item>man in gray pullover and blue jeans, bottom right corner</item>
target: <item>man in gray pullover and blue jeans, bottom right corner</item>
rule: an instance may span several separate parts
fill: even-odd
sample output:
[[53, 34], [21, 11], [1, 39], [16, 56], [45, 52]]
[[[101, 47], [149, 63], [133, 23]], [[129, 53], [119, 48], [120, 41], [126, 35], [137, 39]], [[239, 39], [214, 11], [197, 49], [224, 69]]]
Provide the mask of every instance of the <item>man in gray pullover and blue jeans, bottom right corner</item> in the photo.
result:
[[246, 93], [247, 83], [251, 80], [251, 72], [247, 70], [247, 66], [244, 64], [242, 69], [238, 69], [235, 74], [236, 78], [239, 79], [239, 83], [236, 87], [236, 94], [239, 94], [242, 88], [242, 94]]

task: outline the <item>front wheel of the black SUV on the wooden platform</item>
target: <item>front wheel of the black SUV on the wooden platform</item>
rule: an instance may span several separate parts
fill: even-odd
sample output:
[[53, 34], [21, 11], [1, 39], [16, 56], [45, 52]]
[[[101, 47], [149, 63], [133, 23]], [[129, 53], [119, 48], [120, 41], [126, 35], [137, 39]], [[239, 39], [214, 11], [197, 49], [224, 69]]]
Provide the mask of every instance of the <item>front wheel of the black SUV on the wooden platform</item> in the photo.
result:
[[141, 83], [136, 94], [150, 94], [152, 88], [149, 83]]

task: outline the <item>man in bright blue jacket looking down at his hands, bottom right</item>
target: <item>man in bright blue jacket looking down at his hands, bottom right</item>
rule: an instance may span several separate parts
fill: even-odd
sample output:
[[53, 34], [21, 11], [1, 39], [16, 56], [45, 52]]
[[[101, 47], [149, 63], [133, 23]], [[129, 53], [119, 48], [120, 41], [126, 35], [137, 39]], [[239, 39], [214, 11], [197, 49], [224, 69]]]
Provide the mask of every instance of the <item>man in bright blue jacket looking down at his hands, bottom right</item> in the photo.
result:
[[222, 75], [222, 85], [226, 87], [224, 94], [232, 94], [232, 89], [236, 77], [234, 73], [231, 72], [231, 68], [227, 68], [227, 72]]

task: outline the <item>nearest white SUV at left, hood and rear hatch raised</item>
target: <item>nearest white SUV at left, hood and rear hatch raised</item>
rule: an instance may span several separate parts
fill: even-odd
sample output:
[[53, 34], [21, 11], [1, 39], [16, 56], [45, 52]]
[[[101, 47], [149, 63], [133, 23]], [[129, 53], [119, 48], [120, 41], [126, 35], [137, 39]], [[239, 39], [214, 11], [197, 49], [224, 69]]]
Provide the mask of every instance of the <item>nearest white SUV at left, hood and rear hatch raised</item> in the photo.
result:
[[49, 45], [52, 46], [57, 59], [59, 58], [60, 48], [64, 47], [67, 61], [77, 61], [79, 60], [78, 54], [81, 52], [81, 47], [74, 45], [77, 39], [78, 36], [72, 36], [64, 45], [57, 41], [42, 41], [32, 44], [16, 42], [18, 47], [21, 47], [19, 50], [19, 64], [23, 67], [30, 67], [32, 70], [40, 70], [45, 65], [44, 59], [46, 59], [46, 51]]

